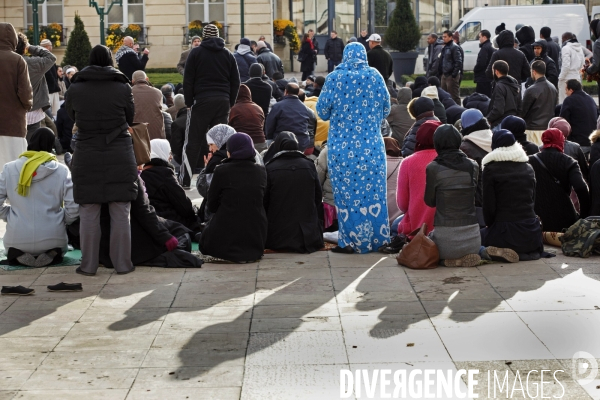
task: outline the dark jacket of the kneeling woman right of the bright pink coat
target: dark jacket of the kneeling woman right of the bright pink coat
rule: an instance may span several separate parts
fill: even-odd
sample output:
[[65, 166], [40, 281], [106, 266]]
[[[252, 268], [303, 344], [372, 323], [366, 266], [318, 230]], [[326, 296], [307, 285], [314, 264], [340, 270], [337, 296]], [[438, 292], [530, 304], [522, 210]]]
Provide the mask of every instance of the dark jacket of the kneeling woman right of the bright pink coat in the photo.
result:
[[[432, 161], [426, 169], [425, 204], [436, 207], [433, 224], [467, 226], [477, 224], [475, 190], [479, 167], [473, 164], [473, 178], [465, 171], [450, 169]], [[431, 183], [431, 184], [430, 184]]]

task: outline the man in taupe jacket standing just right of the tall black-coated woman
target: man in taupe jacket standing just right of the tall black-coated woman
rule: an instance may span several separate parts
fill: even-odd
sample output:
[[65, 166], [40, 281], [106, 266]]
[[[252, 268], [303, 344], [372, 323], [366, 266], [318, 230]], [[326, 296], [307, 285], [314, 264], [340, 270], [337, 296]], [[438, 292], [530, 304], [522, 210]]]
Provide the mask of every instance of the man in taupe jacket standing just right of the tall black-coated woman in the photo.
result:
[[160, 90], [150, 86], [144, 71], [135, 71], [131, 80], [133, 102], [135, 103], [135, 122], [148, 124], [148, 134], [152, 139], [166, 139], [165, 123], [162, 115], [162, 96]]

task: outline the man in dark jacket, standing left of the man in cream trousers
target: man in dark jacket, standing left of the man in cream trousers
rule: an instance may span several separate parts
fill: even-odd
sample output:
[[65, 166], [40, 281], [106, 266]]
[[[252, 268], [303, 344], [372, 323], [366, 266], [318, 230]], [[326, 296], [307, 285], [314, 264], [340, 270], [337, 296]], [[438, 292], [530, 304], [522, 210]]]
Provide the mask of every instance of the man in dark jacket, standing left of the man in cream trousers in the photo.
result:
[[519, 115], [521, 112], [521, 85], [515, 78], [508, 75], [508, 63], [503, 60], [494, 62], [494, 91], [486, 116], [491, 127], [495, 127], [509, 115]]

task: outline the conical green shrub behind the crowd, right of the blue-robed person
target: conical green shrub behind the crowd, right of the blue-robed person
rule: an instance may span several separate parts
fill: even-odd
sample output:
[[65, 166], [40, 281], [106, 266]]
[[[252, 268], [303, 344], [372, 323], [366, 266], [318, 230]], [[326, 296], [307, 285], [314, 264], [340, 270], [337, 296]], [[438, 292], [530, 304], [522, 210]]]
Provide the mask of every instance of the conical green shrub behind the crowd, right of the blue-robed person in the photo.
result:
[[385, 31], [384, 41], [394, 50], [406, 53], [415, 50], [421, 31], [410, 7], [410, 0], [396, 0], [396, 9]]

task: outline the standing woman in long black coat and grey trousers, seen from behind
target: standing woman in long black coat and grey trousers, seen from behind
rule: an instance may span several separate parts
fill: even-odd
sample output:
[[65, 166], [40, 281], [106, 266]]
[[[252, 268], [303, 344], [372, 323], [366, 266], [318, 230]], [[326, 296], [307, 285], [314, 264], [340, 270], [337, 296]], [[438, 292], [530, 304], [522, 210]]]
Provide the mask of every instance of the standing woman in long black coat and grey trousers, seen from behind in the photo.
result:
[[131, 262], [129, 210], [137, 198], [137, 163], [128, 128], [135, 113], [129, 79], [113, 68], [110, 50], [97, 45], [90, 65], [73, 76], [66, 108], [77, 125], [73, 155], [73, 193], [81, 205], [81, 266], [95, 275], [100, 253], [100, 208], [111, 218], [110, 258], [118, 274], [134, 270]]

